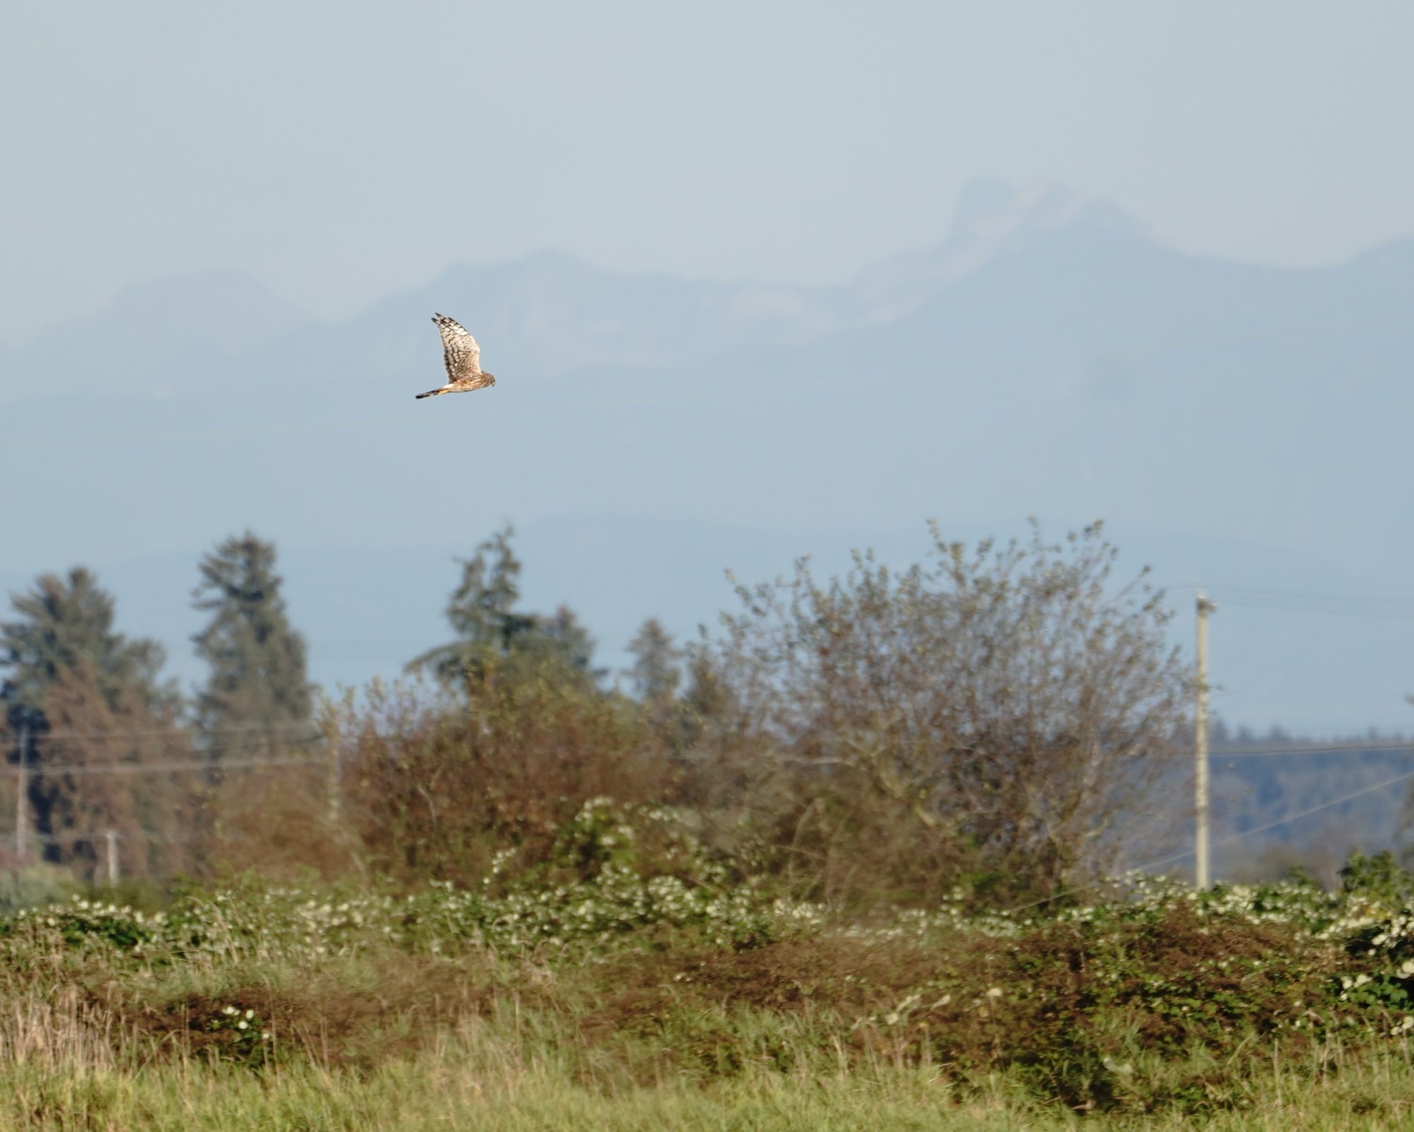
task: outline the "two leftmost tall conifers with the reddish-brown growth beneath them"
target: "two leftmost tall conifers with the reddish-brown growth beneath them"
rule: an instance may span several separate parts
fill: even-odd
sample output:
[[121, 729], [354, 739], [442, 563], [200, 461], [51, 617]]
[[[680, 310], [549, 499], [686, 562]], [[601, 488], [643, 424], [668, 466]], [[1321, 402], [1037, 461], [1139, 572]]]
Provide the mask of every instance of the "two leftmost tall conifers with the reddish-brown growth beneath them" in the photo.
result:
[[30, 842], [45, 860], [96, 869], [112, 832], [127, 873], [194, 865], [222, 760], [283, 750], [310, 723], [305, 641], [274, 565], [274, 546], [250, 532], [199, 562], [192, 604], [209, 620], [194, 647], [208, 679], [191, 695], [163, 679], [157, 641], [116, 631], [113, 597], [86, 567], [11, 596], [0, 621], [11, 853]]

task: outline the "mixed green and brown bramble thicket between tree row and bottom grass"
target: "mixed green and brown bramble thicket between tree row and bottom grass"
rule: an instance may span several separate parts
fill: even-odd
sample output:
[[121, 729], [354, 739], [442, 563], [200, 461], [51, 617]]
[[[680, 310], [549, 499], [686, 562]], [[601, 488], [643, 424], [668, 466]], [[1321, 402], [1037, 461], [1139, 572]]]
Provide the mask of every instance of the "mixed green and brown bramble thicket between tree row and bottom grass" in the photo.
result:
[[117, 1019], [100, 1032], [148, 1034], [158, 1063], [189, 1050], [366, 1075], [506, 1010], [516, 1034], [578, 1058], [566, 1074], [617, 1088], [889, 1065], [949, 1104], [1005, 1080], [1008, 1104], [1134, 1118], [1250, 1111], [1273, 1074], [1290, 1094], [1335, 1058], [1357, 1080], [1350, 1058], [1414, 1030], [1414, 907], [1380, 908], [1353, 880], [1195, 893], [1131, 876], [1027, 917], [950, 901], [846, 921], [737, 879], [666, 811], [595, 798], [553, 845], [471, 889], [250, 879], [161, 913], [24, 911], [0, 920], [0, 982], [86, 988]]

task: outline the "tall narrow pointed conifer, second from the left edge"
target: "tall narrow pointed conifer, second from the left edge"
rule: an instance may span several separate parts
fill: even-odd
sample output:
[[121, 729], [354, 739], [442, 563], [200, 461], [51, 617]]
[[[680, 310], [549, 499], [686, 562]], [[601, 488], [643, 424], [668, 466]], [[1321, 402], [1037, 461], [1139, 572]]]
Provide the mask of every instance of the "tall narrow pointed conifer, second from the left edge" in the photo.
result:
[[249, 531], [201, 560], [192, 604], [211, 620], [194, 640], [211, 675], [197, 699], [197, 720], [209, 746], [233, 729], [288, 739], [291, 724], [310, 719], [304, 637], [290, 625], [274, 565], [274, 543]]

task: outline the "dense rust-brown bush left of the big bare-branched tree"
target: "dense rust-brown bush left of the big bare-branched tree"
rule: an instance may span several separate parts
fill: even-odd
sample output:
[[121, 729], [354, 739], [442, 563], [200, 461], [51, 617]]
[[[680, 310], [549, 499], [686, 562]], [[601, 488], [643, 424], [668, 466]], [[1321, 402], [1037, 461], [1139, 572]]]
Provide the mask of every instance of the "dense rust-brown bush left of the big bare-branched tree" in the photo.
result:
[[361, 867], [465, 884], [508, 849], [519, 867], [544, 863], [591, 798], [663, 798], [667, 767], [638, 706], [563, 675], [495, 664], [461, 708], [376, 686], [331, 710]]

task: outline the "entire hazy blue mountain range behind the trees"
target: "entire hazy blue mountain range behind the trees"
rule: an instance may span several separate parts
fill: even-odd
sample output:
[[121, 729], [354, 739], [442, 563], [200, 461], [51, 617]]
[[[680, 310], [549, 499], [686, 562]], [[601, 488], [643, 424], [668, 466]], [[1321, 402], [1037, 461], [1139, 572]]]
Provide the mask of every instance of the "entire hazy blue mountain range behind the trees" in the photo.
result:
[[[414, 405], [434, 310], [495, 389]], [[134, 289], [0, 351], [0, 587], [75, 562], [185, 679], [195, 562], [281, 548], [315, 678], [444, 634], [467, 553], [520, 528], [527, 599], [605, 659], [800, 553], [1107, 519], [1184, 617], [1212, 587], [1219, 710], [1258, 730], [1398, 727], [1414, 621], [1226, 603], [1225, 586], [1414, 606], [1414, 242], [1338, 267], [1179, 255], [1118, 208], [978, 183], [930, 250], [841, 287], [677, 280], [543, 253], [455, 266], [324, 323], [240, 275]], [[1299, 604], [1299, 603], [1297, 603]]]

